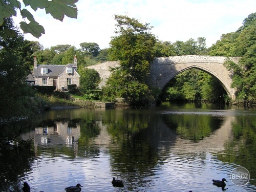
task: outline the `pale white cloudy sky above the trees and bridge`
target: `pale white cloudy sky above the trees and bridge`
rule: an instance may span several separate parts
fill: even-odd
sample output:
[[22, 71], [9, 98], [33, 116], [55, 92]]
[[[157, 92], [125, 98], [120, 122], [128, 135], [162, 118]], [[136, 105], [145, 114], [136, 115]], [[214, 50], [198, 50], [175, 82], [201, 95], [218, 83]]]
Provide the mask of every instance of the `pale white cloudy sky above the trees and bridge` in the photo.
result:
[[[79, 0], [75, 5], [77, 18], [65, 16], [63, 22], [43, 9], [34, 12], [26, 7], [45, 28], [45, 34], [39, 38], [24, 34], [25, 39], [39, 41], [44, 48], [71, 45], [79, 49], [81, 42], [109, 48], [117, 24], [114, 15], [120, 14], [149, 23], [154, 27], [151, 33], [161, 41], [205, 37], [206, 46], [211, 47], [222, 34], [236, 31], [256, 12], [255, 0]], [[15, 25], [23, 20], [18, 14], [13, 19]]]

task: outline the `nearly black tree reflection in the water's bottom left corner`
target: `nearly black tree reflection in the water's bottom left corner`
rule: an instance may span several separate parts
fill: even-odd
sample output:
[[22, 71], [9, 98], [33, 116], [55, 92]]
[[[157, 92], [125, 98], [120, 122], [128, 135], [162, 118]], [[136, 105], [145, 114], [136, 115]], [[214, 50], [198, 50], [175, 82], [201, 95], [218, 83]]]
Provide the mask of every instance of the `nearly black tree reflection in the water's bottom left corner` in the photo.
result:
[[23, 182], [19, 182], [19, 179], [24, 176], [24, 172], [31, 171], [33, 157], [34, 151], [29, 143], [0, 151], [1, 191], [20, 191]]

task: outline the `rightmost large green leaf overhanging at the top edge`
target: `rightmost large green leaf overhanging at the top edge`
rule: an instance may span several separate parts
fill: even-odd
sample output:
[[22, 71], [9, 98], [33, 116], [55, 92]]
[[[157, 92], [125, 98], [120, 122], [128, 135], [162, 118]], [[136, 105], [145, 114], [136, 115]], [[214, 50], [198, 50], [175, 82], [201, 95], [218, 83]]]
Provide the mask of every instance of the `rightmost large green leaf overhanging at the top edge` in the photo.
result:
[[[73, 0], [75, 2], [76, 0]], [[49, 7], [46, 8], [46, 13], [50, 13], [53, 18], [62, 22], [65, 15], [71, 18], [77, 18], [76, 5], [67, 4], [68, 0], [56, 0], [49, 2]]]

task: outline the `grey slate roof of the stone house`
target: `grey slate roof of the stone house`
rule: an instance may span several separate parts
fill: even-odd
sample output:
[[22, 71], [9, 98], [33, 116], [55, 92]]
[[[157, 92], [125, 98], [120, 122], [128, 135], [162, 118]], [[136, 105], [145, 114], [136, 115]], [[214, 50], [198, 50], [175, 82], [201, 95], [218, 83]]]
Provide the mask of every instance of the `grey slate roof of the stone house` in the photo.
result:
[[[41, 74], [41, 68], [47, 68], [47, 74]], [[75, 71], [77, 70], [76, 65], [69, 63], [68, 65], [38, 65], [34, 68], [34, 76], [35, 77], [58, 77], [66, 68], [74, 68]]]

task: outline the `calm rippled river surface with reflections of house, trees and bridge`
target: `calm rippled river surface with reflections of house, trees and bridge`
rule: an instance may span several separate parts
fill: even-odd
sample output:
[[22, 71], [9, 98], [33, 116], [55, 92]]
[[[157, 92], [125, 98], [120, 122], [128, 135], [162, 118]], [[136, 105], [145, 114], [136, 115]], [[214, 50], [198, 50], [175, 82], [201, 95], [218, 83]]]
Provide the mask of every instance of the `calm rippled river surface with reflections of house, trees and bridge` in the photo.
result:
[[[22, 134], [30, 147], [0, 150], [0, 191], [256, 191], [256, 110], [170, 104], [143, 110], [73, 109], [42, 114]], [[250, 173], [244, 186], [233, 168]], [[113, 187], [112, 178], [123, 188]]]

